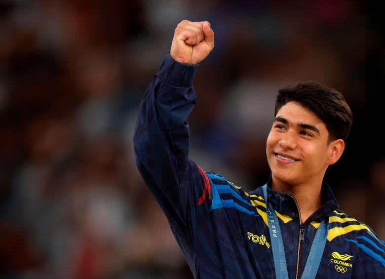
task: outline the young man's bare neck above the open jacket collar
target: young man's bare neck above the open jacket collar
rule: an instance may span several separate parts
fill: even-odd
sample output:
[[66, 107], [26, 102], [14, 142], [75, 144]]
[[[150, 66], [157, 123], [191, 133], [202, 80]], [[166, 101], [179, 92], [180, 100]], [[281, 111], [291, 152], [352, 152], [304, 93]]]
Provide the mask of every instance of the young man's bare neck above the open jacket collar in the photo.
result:
[[322, 181], [297, 185], [279, 181], [274, 177], [271, 181], [271, 189], [294, 196], [301, 213], [301, 223], [305, 223], [308, 217], [321, 207], [321, 187]]

